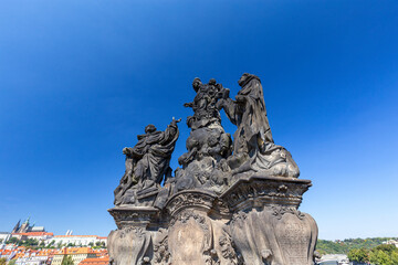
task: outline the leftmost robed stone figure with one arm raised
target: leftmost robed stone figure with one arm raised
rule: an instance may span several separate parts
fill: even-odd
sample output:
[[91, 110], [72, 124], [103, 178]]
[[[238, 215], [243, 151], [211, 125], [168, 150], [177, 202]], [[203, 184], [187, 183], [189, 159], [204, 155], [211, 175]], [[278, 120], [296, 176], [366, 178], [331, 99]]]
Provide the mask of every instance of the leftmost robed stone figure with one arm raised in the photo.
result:
[[126, 147], [126, 171], [119, 186], [115, 189], [115, 205], [134, 203], [137, 191], [160, 186], [171, 174], [169, 162], [179, 136], [177, 123], [172, 118], [165, 131], [154, 125], [145, 127], [145, 134], [137, 136], [138, 142], [132, 148]]

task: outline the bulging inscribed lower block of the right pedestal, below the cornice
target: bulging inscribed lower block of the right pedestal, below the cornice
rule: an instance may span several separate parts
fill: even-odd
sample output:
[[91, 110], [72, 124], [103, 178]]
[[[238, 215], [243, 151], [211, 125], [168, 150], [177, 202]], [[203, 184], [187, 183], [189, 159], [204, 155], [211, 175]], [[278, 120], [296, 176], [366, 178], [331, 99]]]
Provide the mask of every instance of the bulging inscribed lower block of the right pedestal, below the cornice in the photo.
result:
[[245, 264], [313, 264], [317, 227], [295, 208], [266, 206], [238, 212], [231, 222], [232, 240]]

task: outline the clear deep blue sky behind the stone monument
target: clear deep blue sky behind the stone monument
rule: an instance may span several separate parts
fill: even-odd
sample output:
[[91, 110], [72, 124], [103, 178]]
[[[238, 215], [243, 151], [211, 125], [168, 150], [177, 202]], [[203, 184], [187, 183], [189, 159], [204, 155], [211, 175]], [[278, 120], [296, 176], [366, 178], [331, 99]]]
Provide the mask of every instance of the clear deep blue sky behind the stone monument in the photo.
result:
[[0, 231], [31, 216], [107, 235], [122, 149], [185, 120], [196, 76], [234, 96], [249, 72], [313, 181], [301, 210], [320, 237], [398, 236], [397, 14], [396, 0], [2, 0]]

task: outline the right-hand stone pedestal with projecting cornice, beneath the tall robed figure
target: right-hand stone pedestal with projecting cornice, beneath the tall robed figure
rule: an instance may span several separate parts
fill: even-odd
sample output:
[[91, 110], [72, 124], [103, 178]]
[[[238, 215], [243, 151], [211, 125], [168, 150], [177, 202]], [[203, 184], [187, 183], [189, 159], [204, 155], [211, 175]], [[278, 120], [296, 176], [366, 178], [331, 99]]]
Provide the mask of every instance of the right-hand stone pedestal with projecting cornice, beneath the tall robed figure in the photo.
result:
[[232, 241], [244, 264], [311, 265], [317, 226], [297, 208], [308, 180], [251, 177], [221, 195], [231, 212]]

